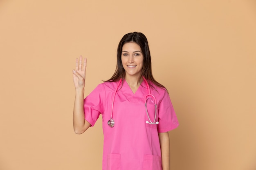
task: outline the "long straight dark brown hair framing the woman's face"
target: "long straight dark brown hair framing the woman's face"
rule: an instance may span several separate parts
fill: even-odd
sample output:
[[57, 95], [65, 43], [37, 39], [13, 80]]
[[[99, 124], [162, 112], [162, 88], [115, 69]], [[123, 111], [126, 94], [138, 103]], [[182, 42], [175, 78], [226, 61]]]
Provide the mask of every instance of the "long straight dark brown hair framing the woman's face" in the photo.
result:
[[166, 88], [162, 84], [158, 83], [153, 77], [148, 40], [146, 36], [140, 32], [127, 33], [120, 40], [117, 47], [117, 67], [116, 67], [115, 73], [106, 82], [117, 82], [121, 78], [124, 79], [126, 73], [122, 65], [121, 54], [122, 54], [122, 48], [124, 44], [128, 42], [135, 42], [141, 48], [141, 51], [143, 54], [143, 66], [142, 66], [141, 76], [144, 76], [148, 82], [152, 82], [156, 86], [159, 86], [166, 90]]

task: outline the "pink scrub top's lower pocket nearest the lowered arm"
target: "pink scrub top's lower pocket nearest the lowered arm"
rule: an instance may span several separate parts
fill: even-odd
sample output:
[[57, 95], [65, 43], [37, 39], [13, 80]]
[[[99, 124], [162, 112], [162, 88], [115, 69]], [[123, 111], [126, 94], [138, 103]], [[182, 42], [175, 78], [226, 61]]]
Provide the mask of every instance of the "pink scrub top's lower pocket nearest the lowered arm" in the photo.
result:
[[157, 155], [144, 155], [143, 170], [162, 170], [162, 160]]

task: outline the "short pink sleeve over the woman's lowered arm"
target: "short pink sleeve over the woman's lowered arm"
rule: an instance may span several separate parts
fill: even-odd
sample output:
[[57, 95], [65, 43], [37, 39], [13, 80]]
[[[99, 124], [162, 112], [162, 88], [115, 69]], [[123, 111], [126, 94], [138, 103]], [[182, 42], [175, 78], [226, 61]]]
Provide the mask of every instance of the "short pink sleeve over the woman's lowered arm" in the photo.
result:
[[179, 122], [167, 91], [164, 92], [164, 97], [159, 101], [158, 105], [158, 132], [168, 132], [177, 128]]

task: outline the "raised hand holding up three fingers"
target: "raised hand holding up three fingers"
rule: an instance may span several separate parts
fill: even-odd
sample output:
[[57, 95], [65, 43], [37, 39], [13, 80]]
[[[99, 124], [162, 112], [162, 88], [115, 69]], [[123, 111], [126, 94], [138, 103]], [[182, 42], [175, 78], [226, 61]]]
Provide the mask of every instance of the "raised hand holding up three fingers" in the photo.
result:
[[73, 70], [73, 81], [76, 89], [85, 87], [85, 71], [86, 58], [83, 61], [83, 57], [80, 55], [79, 60], [76, 58], [76, 70]]

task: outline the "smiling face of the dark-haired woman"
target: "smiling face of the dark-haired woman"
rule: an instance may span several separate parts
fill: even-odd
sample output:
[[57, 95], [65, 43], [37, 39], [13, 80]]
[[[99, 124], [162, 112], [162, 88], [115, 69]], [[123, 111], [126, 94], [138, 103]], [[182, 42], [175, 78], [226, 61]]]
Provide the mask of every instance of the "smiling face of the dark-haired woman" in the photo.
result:
[[143, 66], [143, 54], [140, 46], [135, 42], [127, 42], [123, 45], [121, 60], [127, 76], [141, 76]]

